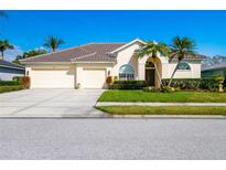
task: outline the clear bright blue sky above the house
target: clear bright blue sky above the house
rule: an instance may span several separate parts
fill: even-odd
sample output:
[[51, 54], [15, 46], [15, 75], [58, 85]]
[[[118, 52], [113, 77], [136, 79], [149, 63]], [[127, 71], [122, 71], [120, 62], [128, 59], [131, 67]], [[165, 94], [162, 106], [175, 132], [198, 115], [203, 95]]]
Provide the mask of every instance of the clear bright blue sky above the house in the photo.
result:
[[13, 60], [42, 47], [55, 35], [65, 41], [60, 50], [89, 42], [130, 42], [137, 38], [170, 44], [176, 35], [196, 42], [201, 54], [226, 55], [226, 11], [6, 11], [0, 39], [15, 46]]

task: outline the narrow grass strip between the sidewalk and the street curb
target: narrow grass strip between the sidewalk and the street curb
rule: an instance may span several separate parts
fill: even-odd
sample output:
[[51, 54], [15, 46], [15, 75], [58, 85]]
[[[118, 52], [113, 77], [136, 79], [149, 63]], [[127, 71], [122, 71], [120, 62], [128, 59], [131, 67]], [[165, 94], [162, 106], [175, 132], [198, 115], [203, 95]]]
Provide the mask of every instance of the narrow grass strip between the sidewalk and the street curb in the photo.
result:
[[224, 106], [99, 106], [110, 115], [224, 115]]

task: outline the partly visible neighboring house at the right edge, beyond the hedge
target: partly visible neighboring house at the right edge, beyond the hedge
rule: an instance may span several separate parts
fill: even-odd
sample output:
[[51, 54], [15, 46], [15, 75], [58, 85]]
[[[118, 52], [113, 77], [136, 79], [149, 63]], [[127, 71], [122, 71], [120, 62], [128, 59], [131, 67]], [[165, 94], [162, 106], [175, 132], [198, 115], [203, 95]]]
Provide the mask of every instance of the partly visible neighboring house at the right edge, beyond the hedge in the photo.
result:
[[202, 68], [202, 77], [226, 76], [226, 62], [205, 66]]

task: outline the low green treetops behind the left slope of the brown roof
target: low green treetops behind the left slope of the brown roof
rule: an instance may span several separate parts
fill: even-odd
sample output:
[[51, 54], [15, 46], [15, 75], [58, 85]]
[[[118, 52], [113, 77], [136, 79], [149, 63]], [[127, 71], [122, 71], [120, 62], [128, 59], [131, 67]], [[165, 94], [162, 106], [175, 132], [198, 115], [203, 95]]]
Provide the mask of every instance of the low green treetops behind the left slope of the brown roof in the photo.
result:
[[24, 52], [22, 55], [18, 55], [15, 57], [15, 60], [13, 61], [13, 63], [21, 64], [20, 60], [22, 60], [22, 59], [32, 57], [32, 56], [36, 56], [36, 55], [42, 55], [42, 54], [46, 54], [46, 53], [47, 52], [44, 49], [31, 50], [31, 51]]

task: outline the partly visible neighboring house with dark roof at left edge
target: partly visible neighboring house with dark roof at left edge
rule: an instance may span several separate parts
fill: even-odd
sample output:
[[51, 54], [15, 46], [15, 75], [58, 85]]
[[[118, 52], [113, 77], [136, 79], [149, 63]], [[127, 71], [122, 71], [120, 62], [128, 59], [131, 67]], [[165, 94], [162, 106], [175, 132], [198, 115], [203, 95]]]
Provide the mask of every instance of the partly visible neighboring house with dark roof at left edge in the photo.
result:
[[0, 59], [0, 81], [12, 81], [13, 77], [24, 76], [25, 67]]

